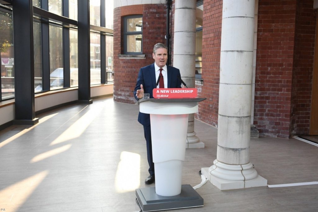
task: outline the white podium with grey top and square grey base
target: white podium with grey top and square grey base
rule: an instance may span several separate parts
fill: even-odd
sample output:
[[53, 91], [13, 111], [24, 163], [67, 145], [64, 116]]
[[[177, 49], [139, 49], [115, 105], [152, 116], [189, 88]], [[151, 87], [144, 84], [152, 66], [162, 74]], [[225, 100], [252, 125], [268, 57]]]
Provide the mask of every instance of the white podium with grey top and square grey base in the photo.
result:
[[142, 211], [203, 206], [203, 198], [188, 184], [182, 185], [188, 117], [205, 98], [141, 99], [139, 111], [150, 114], [155, 187], [136, 189]]

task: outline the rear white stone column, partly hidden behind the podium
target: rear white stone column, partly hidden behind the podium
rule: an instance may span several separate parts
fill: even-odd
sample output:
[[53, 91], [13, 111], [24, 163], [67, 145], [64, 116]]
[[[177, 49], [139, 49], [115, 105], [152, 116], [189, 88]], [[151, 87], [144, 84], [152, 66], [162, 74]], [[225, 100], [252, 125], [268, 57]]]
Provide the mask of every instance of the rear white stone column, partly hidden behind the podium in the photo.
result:
[[[195, 87], [196, 0], [175, 1], [173, 66], [180, 69], [188, 88]], [[194, 132], [194, 114], [189, 114], [187, 148], [204, 148]]]

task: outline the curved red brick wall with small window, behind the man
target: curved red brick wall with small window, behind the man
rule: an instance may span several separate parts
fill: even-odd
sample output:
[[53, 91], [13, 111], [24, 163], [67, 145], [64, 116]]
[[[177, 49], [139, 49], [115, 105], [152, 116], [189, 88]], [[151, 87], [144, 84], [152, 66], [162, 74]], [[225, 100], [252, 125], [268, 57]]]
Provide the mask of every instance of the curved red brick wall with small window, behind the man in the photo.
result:
[[[123, 16], [142, 15], [142, 51], [146, 59], [119, 59], [123, 54]], [[166, 43], [166, 5], [140, 4], [114, 9], [114, 100], [134, 103], [133, 91], [139, 69], [151, 63], [152, 50], [156, 43]]]

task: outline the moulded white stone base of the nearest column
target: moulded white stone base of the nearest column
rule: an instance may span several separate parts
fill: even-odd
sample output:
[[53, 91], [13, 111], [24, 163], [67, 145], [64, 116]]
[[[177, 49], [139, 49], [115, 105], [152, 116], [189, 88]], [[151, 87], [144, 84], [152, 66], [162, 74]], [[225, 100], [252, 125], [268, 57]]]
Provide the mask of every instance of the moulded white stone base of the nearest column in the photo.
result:
[[220, 190], [267, 186], [267, 180], [257, 174], [251, 163], [230, 165], [215, 160], [214, 165], [202, 168], [201, 173]]

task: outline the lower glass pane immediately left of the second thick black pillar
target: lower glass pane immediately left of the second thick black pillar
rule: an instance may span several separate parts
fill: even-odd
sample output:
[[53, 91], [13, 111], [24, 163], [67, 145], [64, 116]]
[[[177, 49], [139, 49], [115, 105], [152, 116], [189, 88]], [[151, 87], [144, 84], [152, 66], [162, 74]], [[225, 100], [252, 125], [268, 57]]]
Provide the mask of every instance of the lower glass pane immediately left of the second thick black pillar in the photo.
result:
[[79, 85], [78, 76], [78, 37], [77, 30], [70, 30], [70, 74], [71, 87]]

